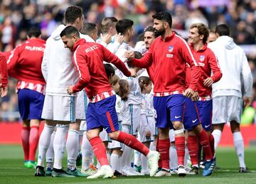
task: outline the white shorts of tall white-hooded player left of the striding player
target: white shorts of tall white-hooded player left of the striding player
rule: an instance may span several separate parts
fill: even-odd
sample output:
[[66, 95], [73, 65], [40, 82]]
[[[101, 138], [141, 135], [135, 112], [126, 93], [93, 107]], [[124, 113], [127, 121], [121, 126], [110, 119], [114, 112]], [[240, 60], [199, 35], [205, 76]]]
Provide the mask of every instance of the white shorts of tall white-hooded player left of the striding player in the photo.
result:
[[55, 96], [46, 94], [43, 102], [42, 118], [53, 121], [75, 122], [75, 109], [75, 96]]

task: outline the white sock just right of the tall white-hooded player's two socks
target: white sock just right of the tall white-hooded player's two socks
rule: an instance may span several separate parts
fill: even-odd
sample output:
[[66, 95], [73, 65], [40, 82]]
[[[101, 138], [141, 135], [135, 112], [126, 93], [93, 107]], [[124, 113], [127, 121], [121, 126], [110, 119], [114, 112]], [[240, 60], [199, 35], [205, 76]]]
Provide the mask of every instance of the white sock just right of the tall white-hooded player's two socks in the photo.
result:
[[79, 131], [70, 129], [67, 139], [68, 169], [75, 170], [76, 158], [79, 153]]

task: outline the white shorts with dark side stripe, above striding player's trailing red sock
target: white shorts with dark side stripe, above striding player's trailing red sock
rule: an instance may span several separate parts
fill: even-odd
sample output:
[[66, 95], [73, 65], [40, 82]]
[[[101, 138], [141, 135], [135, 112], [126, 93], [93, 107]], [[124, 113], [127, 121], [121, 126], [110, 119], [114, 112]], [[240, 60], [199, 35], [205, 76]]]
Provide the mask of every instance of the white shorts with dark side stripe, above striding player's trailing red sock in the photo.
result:
[[141, 121], [141, 105], [129, 104], [129, 116], [131, 119], [131, 134], [137, 136], [139, 131], [139, 124]]

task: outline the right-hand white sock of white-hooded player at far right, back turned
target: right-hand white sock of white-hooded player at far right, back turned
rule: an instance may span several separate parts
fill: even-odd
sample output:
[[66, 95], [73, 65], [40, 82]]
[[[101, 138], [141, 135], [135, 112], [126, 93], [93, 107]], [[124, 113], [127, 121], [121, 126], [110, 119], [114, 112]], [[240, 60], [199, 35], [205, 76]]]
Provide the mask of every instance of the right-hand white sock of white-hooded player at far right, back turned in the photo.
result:
[[239, 167], [246, 168], [246, 166], [245, 166], [245, 148], [244, 148], [244, 142], [242, 139], [242, 134], [240, 131], [233, 133], [233, 140], [234, 140], [235, 151], [238, 155]]

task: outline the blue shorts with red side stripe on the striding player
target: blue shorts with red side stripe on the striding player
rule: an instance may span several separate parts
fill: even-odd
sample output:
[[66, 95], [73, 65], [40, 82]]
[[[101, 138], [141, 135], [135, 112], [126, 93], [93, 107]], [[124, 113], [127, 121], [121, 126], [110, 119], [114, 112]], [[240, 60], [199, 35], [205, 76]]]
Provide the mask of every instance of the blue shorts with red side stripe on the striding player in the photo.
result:
[[87, 131], [103, 127], [107, 134], [119, 130], [116, 96], [107, 97], [100, 102], [89, 103], [86, 113]]

